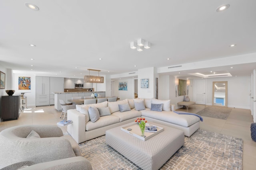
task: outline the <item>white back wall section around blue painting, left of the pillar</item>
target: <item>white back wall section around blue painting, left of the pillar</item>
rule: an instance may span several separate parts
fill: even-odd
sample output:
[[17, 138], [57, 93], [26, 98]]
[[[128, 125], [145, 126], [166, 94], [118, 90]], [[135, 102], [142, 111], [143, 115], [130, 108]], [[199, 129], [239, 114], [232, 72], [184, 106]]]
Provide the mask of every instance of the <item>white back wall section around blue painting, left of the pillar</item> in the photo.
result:
[[[118, 90], [119, 82], [127, 82], [127, 90]], [[120, 100], [133, 99], [134, 98], [134, 79], [121, 79], [115, 80], [115, 96], [118, 96]]]

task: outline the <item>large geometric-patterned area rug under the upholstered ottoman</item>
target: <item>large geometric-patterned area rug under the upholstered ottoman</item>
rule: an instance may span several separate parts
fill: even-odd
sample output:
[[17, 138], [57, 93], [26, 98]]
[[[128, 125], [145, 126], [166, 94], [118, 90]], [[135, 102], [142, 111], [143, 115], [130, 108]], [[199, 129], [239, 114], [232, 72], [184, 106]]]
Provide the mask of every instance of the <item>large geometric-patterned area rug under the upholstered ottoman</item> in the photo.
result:
[[[94, 170], [140, 170], [105, 143], [105, 135], [79, 144]], [[243, 141], [198, 129], [161, 170], [242, 170]]]

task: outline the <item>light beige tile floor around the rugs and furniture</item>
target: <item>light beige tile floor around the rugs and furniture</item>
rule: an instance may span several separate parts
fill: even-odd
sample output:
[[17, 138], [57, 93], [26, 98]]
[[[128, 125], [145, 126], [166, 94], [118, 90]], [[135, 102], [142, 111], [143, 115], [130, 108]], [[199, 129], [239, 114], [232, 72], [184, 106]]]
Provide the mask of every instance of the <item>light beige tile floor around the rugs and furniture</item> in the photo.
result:
[[[195, 105], [189, 107], [188, 112], [197, 113], [204, 109], [205, 105]], [[186, 111], [185, 108], [178, 110]], [[0, 131], [8, 127], [18, 125], [56, 125], [63, 119], [60, 118], [61, 111], [57, 111], [54, 106], [29, 107], [20, 113], [18, 120], [0, 122]], [[232, 108], [228, 119], [216, 119], [203, 116], [204, 121], [200, 122], [200, 129], [222, 133], [244, 141], [243, 148], [243, 170], [256, 169], [256, 142], [252, 141], [250, 136], [250, 125], [253, 123], [251, 111], [248, 109]], [[66, 133], [67, 127], [61, 127], [63, 133]]]

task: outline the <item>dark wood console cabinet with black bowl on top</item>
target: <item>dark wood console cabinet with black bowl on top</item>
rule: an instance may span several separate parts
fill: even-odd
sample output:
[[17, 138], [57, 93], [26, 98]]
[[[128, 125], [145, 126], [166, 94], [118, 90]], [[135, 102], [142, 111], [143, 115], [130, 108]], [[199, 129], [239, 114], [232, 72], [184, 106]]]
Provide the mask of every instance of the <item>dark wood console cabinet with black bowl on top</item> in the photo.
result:
[[2, 96], [1, 119], [18, 119], [20, 115], [20, 96]]

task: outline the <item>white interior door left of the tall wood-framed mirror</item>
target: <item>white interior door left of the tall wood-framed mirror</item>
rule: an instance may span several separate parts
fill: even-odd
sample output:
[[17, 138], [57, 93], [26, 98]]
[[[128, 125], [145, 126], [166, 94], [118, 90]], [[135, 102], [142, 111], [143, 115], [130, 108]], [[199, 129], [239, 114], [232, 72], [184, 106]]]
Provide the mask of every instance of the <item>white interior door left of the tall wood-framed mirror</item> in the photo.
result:
[[194, 101], [205, 105], [205, 79], [194, 80]]

